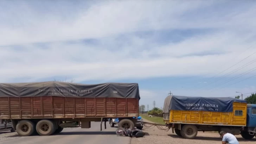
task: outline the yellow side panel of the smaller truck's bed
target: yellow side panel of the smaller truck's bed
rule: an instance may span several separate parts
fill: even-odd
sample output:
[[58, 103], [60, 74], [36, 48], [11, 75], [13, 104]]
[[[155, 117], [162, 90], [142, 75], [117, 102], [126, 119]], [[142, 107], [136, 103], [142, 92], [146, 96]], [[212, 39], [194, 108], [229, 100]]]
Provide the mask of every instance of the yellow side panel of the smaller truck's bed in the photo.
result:
[[233, 112], [170, 111], [169, 123], [246, 126], [247, 104], [233, 103]]

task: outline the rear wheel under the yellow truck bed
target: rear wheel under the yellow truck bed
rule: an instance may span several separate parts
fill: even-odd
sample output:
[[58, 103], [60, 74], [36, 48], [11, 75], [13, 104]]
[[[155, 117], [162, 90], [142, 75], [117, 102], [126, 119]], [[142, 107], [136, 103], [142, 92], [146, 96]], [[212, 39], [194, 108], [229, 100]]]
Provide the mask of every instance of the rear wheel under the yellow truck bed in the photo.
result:
[[197, 136], [197, 127], [186, 124], [181, 128], [180, 134], [186, 139], [193, 139]]

